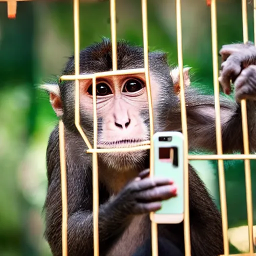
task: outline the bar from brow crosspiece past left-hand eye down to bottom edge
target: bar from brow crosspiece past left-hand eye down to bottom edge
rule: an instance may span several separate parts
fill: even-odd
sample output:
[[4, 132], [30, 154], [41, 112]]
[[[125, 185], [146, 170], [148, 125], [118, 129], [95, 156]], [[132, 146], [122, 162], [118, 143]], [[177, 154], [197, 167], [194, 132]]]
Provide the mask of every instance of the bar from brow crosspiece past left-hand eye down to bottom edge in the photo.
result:
[[[93, 148], [97, 148], [97, 105], [96, 105], [96, 78], [92, 78], [93, 99]], [[97, 152], [92, 152], [92, 213], [93, 213], [93, 248], [94, 256], [99, 255], [98, 246], [98, 159]]]

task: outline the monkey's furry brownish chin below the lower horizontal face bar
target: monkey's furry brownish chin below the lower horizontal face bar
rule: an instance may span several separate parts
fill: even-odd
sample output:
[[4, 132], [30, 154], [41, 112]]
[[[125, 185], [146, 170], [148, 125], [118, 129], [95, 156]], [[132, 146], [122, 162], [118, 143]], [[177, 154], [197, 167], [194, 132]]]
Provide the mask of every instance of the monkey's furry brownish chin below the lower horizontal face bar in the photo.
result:
[[107, 168], [116, 171], [139, 171], [143, 169], [146, 154], [146, 150], [111, 152], [99, 153], [98, 158]]

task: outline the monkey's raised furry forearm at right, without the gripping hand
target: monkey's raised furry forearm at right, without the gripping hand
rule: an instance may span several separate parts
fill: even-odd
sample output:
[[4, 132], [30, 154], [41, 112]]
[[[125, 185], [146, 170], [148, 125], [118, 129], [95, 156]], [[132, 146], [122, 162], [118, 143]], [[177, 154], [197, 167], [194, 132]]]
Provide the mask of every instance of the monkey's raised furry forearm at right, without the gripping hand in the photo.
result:
[[[202, 103], [198, 105], [192, 103], [192, 97], [197, 97], [196, 101]], [[187, 99], [191, 102], [186, 107], [189, 148], [215, 152], [216, 126], [213, 96], [190, 95]], [[247, 122], [249, 147], [253, 152], [256, 150], [256, 102], [253, 100], [247, 100]], [[220, 124], [223, 152], [232, 153], [236, 150], [243, 152], [240, 103], [220, 96]]]

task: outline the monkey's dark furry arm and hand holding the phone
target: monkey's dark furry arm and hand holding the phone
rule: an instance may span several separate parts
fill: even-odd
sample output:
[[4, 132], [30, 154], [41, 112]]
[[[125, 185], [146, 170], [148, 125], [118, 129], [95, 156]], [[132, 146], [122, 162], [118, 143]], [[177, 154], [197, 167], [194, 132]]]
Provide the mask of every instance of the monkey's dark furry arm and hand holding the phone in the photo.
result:
[[[66, 149], [68, 198], [68, 254], [93, 255], [92, 181], [90, 160], [72, 159]], [[86, 165], [87, 164], [87, 165]], [[175, 195], [176, 188], [166, 178], [150, 179], [148, 171], [131, 180], [112, 200], [99, 184], [99, 251], [105, 253], [116, 242], [134, 214], [161, 207], [161, 200]], [[48, 188], [45, 201], [45, 236], [54, 255], [61, 255], [61, 186], [58, 129], [53, 130], [47, 147]], [[102, 203], [104, 202], [104, 203]]]

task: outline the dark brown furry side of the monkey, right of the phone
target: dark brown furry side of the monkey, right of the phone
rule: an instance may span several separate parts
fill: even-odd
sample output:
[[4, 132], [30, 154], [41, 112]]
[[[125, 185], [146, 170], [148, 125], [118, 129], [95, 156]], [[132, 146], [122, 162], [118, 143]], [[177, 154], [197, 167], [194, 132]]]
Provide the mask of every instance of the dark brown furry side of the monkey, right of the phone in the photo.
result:
[[[191, 255], [223, 254], [221, 215], [205, 185], [189, 166]], [[192, 224], [196, 223], [196, 224]]]

